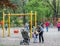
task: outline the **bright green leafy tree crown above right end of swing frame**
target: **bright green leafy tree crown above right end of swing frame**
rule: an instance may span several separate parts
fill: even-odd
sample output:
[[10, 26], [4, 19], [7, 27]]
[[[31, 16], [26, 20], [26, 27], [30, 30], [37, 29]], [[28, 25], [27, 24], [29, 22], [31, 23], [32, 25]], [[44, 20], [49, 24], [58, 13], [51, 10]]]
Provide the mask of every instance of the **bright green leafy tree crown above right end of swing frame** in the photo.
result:
[[44, 18], [44, 17], [50, 17], [52, 10], [47, 2], [44, 0], [31, 0], [26, 4], [26, 10], [29, 11], [37, 11], [37, 17]]

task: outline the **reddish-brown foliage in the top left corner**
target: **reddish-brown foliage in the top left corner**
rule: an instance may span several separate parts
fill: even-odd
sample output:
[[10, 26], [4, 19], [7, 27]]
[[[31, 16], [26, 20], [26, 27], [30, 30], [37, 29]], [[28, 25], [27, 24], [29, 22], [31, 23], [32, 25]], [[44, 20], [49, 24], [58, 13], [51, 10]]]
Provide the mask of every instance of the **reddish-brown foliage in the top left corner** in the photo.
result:
[[4, 7], [6, 7], [6, 8], [10, 7], [12, 9], [16, 9], [17, 5], [10, 3], [9, 0], [0, 0], [0, 8], [4, 8]]

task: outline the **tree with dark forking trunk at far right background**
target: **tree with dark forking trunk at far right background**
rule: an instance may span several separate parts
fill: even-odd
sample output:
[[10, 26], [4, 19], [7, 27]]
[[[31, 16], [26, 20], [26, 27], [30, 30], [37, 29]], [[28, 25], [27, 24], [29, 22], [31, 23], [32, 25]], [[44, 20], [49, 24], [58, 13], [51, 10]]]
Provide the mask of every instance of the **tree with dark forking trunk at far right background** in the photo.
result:
[[56, 18], [58, 17], [58, 13], [59, 13], [59, 0], [52, 0], [52, 3], [50, 3], [49, 0], [46, 1], [53, 10], [53, 22], [54, 25], [56, 25]]

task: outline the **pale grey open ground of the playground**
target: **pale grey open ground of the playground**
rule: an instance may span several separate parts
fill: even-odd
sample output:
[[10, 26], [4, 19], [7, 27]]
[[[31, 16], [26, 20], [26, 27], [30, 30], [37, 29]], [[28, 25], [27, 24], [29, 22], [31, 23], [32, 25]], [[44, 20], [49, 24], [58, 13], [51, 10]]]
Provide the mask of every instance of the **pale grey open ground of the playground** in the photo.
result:
[[[1, 36], [0, 29], [0, 46], [28, 46], [28, 45], [20, 45], [20, 40], [22, 40], [22, 36], [19, 32], [18, 35], [13, 34], [13, 30], [15, 28], [11, 28], [11, 37], [7, 37], [7, 31], [5, 32], [5, 38]], [[19, 29], [19, 28], [17, 28]], [[20, 30], [20, 29], [19, 29]], [[44, 43], [39, 43], [37, 39], [37, 43], [33, 43], [33, 39], [31, 39], [29, 46], [60, 46], [60, 32], [57, 31], [57, 28], [49, 28], [48, 32], [44, 32]]]

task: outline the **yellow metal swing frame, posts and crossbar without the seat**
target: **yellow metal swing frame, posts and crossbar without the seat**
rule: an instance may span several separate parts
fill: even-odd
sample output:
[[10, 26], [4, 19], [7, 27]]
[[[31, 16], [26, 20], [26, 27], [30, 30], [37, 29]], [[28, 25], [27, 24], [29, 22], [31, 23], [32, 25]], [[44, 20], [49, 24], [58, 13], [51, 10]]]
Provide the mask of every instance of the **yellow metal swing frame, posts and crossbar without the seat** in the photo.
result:
[[25, 15], [30, 15], [30, 23], [31, 23], [31, 28], [30, 28], [30, 38], [32, 38], [32, 15], [35, 15], [35, 27], [36, 27], [36, 12], [33, 14], [32, 11], [31, 13], [26, 13], [26, 14], [4, 14], [3, 12], [3, 33], [2, 36], [4, 37], [4, 16], [8, 15], [8, 37], [10, 37], [10, 16], [25, 16]]

